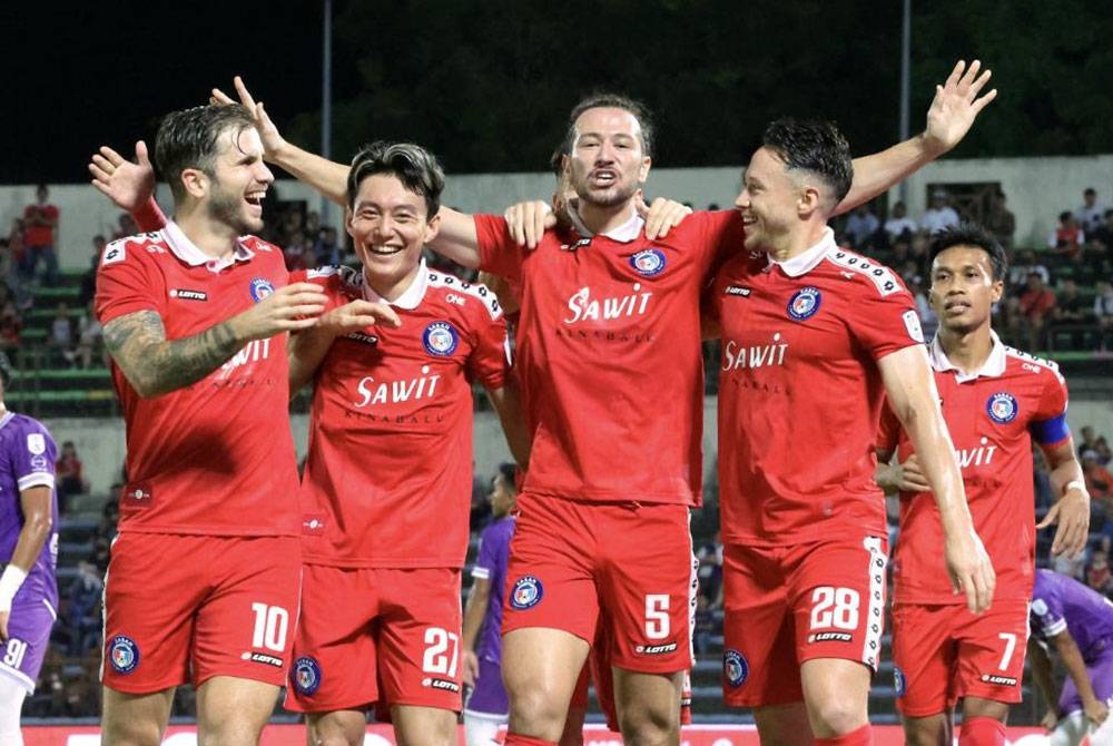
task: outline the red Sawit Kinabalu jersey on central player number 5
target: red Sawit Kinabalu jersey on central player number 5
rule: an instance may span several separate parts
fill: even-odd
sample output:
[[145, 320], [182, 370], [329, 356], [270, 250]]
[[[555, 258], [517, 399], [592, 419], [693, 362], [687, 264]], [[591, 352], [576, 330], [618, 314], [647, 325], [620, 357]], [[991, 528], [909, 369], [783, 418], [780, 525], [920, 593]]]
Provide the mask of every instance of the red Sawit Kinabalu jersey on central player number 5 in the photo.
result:
[[588, 501], [696, 505], [702, 481], [699, 296], [737, 212], [695, 213], [649, 241], [632, 219], [609, 235], [548, 230], [518, 246], [475, 216], [480, 266], [522, 288], [518, 372], [533, 451], [524, 489]]

